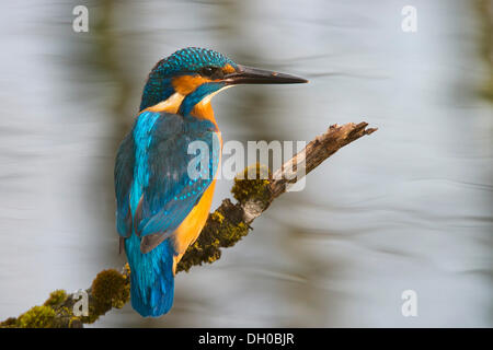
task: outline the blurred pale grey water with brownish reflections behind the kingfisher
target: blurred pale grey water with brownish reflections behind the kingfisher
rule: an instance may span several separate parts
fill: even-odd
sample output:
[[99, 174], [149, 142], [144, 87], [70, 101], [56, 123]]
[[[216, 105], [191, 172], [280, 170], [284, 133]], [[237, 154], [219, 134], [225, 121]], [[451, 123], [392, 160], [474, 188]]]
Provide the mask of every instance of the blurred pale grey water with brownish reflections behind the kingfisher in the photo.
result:
[[[89, 8], [90, 32], [72, 31]], [[401, 10], [417, 9], [403, 33]], [[94, 327], [493, 326], [489, 1], [4, 1], [0, 319], [119, 268], [113, 165], [156, 61], [186, 46], [305, 77], [214, 101], [226, 141], [379, 131], [341, 150], [223, 250], [174, 307]], [[220, 180], [214, 208], [229, 196]], [[419, 316], [401, 315], [401, 292]]]

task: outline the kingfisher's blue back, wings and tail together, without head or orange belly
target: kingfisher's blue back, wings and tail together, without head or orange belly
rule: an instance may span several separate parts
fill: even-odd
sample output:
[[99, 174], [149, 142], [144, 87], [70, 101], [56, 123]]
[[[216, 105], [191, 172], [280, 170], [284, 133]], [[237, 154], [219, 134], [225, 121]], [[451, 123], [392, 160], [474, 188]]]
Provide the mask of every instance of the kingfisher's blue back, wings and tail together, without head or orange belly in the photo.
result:
[[[131, 303], [144, 316], [159, 316], [172, 305], [172, 265], [176, 252], [165, 238], [214, 179], [220, 151], [215, 131], [209, 120], [144, 112], [118, 150], [117, 229], [122, 236], [128, 237], [125, 250], [131, 270]], [[200, 142], [207, 153], [188, 154], [194, 141]], [[200, 165], [208, 172], [197, 172], [197, 178], [191, 177], [188, 167], [200, 170]], [[159, 243], [163, 243], [144, 253], [142, 237], [151, 234], [161, 235]]]

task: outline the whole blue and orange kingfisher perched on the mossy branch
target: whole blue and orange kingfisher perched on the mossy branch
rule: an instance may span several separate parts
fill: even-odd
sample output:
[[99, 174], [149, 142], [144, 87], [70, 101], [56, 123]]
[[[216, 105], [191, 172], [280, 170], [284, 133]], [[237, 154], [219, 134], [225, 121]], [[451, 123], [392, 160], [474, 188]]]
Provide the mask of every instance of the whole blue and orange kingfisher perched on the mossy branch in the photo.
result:
[[[114, 172], [116, 230], [130, 267], [131, 306], [140, 315], [170, 311], [176, 265], [210, 210], [222, 148], [213, 96], [238, 84], [305, 82], [197, 47], [152, 68]], [[205, 145], [205, 154], [191, 152], [194, 142]]]

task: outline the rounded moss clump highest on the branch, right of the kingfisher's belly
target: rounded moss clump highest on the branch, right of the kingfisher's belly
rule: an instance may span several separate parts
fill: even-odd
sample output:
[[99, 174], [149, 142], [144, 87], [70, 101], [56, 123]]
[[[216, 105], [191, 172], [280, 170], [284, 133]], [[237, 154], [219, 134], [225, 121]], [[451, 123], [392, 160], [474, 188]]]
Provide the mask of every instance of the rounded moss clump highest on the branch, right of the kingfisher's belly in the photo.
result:
[[271, 201], [268, 184], [272, 178], [268, 168], [256, 163], [246, 167], [240, 175], [234, 178], [234, 185], [231, 188], [233, 197], [240, 203], [244, 203], [246, 200], [254, 200], [268, 205]]

